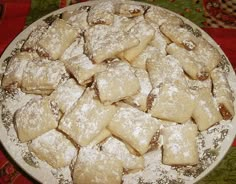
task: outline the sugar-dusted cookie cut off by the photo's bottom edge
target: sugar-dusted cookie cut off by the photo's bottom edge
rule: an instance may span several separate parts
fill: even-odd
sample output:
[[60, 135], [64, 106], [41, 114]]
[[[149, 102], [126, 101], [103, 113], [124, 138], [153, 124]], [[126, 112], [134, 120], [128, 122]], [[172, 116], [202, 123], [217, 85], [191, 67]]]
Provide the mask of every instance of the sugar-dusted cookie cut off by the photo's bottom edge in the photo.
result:
[[80, 149], [73, 170], [75, 184], [120, 184], [122, 180], [122, 162], [94, 148]]

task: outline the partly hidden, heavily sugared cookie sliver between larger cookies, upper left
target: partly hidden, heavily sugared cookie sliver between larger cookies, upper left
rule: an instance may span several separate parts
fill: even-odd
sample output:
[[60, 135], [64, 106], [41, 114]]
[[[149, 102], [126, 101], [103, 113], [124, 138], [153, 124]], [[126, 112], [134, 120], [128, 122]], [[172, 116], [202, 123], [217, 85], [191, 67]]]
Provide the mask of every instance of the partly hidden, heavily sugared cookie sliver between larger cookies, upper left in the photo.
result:
[[60, 60], [65, 61], [72, 57], [78, 56], [84, 53], [84, 38], [77, 38], [61, 55]]

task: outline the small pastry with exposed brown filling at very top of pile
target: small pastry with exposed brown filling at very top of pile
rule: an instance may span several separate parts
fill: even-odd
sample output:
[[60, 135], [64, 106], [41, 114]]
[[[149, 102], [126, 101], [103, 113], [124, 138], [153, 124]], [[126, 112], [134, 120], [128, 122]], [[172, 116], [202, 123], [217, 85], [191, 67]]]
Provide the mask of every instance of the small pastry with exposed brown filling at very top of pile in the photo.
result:
[[131, 4], [131, 3], [121, 3], [119, 5], [119, 15], [125, 17], [137, 17], [144, 14], [144, 8], [141, 5]]

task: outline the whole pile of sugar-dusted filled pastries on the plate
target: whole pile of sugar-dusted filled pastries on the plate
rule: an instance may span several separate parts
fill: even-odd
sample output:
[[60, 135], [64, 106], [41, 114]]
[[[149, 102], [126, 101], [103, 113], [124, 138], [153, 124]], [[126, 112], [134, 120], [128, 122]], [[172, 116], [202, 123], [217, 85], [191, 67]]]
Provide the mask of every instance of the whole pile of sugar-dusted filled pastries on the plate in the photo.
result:
[[234, 98], [221, 54], [184, 25], [132, 1], [39, 25], [2, 80], [38, 96], [14, 115], [19, 140], [53, 168], [71, 166], [74, 183], [121, 183], [155, 149], [163, 164], [198, 164], [198, 134], [232, 119]]

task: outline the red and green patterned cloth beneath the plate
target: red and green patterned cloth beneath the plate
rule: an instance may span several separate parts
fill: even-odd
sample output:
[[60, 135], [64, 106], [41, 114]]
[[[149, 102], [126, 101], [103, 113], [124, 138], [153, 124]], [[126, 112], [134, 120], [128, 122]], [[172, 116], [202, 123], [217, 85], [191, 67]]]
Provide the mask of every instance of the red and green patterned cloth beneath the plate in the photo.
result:
[[[0, 0], [0, 55], [32, 22], [53, 10], [86, 0]], [[236, 0], [137, 0], [159, 5], [204, 28], [236, 68]], [[236, 144], [234, 145], [236, 146]], [[236, 183], [236, 147], [199, 184]], [[22, 171], [0, 144], [0, 184], [37, 183]]]

